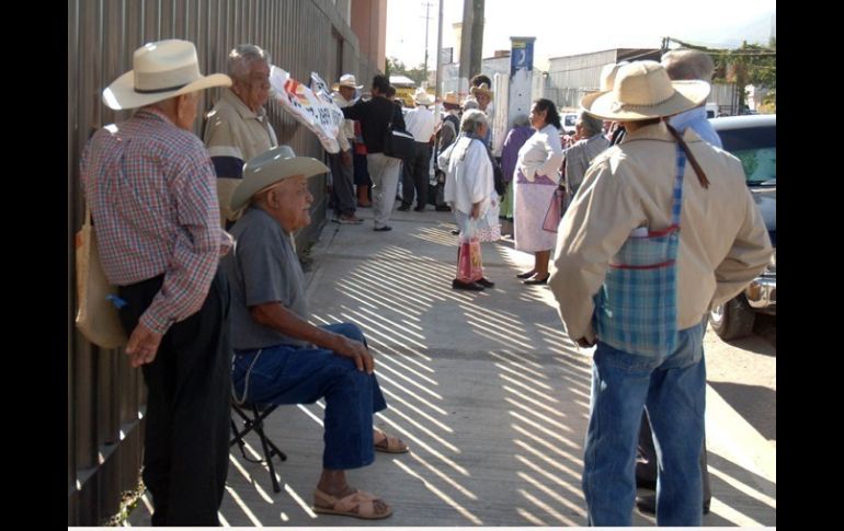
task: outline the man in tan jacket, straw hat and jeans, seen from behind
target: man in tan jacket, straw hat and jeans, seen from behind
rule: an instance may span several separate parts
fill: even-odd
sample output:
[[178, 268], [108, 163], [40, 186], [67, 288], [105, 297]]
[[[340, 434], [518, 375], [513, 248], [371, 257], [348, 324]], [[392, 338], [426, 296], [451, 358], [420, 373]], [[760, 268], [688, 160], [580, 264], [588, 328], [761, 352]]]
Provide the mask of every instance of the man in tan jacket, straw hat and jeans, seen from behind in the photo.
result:
[[627, 136], [592, 162], [562, 219], [549, 281], [566, 328], [597, 343], [583, 462], [594, 526], [629, 526], [642, 408], [659, 459], [657, 522], [700, 526], [704, 315], [771, 256], [741, 162], [663, 119], [697, 106], [705, 81], [671, 81], [654, 61], [618, 70], [590, 114]]

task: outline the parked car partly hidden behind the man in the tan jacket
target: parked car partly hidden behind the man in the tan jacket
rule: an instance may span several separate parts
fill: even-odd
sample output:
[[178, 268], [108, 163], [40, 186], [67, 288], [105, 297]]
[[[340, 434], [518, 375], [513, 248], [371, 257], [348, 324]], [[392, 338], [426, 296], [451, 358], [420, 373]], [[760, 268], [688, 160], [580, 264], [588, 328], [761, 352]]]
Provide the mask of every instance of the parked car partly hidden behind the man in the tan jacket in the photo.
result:
[[774, 254], [767, 268], [734, 299], [709, 313], [709, 324], [722, 339], [744, 337], [757, 313], [776, 315], [776, 115], [746, 115], [709, 120], [723, 149], [741, 160], [748, 186], [771, 234]]

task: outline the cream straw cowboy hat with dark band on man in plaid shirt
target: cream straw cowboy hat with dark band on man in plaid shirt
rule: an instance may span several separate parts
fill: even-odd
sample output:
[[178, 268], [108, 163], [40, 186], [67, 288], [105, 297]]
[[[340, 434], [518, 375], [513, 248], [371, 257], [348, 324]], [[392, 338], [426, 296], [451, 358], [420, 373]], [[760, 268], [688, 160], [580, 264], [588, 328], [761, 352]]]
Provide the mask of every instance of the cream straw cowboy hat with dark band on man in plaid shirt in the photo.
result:
[[212, 86], [231, 86], [225, 73], [203, 76], [196, 47], [187, 41], [147, 43], [135, 50], [132, 70], [103, 91], [103, 102], [115, 111], [136, 108]]

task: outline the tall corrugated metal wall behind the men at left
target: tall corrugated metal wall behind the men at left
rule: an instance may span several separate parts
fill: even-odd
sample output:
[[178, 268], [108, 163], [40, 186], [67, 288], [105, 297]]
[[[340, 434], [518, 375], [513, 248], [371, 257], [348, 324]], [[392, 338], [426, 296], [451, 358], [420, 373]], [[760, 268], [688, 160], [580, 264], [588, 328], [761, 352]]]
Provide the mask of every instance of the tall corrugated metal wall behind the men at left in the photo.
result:
[[[98, 128], [125, 119], [102, 105], [101, 91], [132, 69], [134, 50], [147, 42], [183, 38], [196, 44], [204, 73], [224, 72], [228, 51], [241, 43], [265, 48], [272, 61], [307, 82], [310, 72], [335, 80], [344, 71], [372, 79], [373, 66], [358, 58], [357, 38], [346, 23], [349, 4], [332, 0], [68, 0], [68, 526], [96, 526], [119, 507], [119, 493], [137, 485], [141, 455], [140, 372], [118, 350], [88, 344], [73, 327], [76, 305], [73, 234], [81, 226], [79, 153]], [[342, 11], [342, 12], [341, 12]], [[365, 67], [365, 68], [363, 68]], [[216, 101], [205, 92], [201, 111]], [[282, 143], [321, 159], [309, 131], [267, 105]], [[203, 123], [197, 119], [195, 132]], [[324, 177], [311, 180], [313, 219], [324, 220]], [[318, 222], [298, 235], [312, 241]]]

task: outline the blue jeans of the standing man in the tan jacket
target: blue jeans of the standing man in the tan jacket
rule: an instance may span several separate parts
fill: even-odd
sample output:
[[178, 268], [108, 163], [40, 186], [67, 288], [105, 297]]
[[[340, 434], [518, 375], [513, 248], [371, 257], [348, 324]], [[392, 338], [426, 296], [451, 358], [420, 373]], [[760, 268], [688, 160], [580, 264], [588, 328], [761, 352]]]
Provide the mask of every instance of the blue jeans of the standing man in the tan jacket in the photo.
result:
[[638, 356], [598, 340], [583, 459], [591, 526], [630, 526], [636, 500], [636, 445], [642, 407], [659, 463], [658, 526], [700, 526], [706, 321], [680, 332], [668, 357]]

